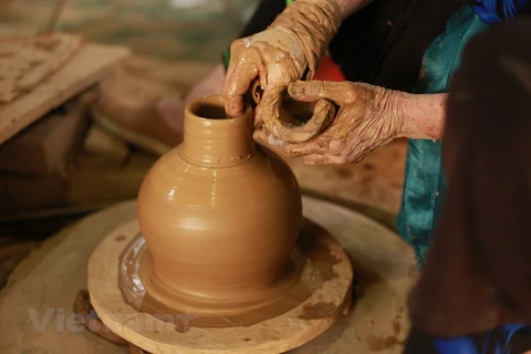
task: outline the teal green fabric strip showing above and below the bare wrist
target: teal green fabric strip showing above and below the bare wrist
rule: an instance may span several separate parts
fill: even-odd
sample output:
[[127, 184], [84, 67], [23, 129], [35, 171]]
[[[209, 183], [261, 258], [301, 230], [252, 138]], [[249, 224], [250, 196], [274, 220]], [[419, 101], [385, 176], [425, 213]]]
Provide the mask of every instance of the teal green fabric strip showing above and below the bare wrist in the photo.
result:
[[[415, 93], [447, 92], [468, 41], [489, 27], [468, 6], [446, 24], [445, 32], [426, 51]], [[446, 189], [441, 167], [441, 142], [410, 139], [407, 148], [404, 197], [397, 225], [402, 237], [415, 249], [421, 269]]]

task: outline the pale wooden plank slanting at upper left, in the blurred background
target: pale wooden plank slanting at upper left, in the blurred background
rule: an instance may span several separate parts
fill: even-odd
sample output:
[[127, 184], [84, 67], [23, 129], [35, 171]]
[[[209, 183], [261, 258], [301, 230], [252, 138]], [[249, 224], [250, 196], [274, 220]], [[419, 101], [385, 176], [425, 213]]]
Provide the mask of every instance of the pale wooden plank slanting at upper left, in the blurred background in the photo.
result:
[[85, 44], [59, 72], [30, 93], [0, 104], [0, 144], [83, 90], [94, 85], [128, 55], [122, 46]]

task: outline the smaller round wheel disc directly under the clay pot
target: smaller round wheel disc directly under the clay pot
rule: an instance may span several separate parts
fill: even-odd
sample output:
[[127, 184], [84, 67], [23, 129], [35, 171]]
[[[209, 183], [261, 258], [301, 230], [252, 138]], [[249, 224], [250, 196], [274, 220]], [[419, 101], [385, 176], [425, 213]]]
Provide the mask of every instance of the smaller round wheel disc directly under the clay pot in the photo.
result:
[[[305, 260], [300, 284], [282, 289], [279, 300], [264, 308], [206, 315], [174, 311], [152, 298], [143, 309], [126, 301], [127, 294], [150, 298], [144, 288], [149, 277], [137, 270], [147, 267], [149, 254], [137, 221], [131, 221], [111, 232], [91, 257], [88, 292], [111, 331], [150, 353], [282, 353], [327, 330], [351, 300], [351, 262], [327, 231], [305, 222], [294, 253]], [[294, 296], [301, 285], [308, 295]]]

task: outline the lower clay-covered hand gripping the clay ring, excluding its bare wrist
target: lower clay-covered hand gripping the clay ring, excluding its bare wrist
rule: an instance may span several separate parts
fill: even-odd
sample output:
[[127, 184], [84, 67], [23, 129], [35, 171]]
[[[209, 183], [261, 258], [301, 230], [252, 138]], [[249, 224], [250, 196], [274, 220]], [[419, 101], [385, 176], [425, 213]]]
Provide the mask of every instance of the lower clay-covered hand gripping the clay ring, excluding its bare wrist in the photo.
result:
[[254, 139], [287, 157], [302, 157], [306, 164], [348, 164], [362, 160], [372, 150], [404, 136], [399, 111], [403, 93], [352, 82], [308, 81], [290, 84], [293, 100], [315, 102], [326, 98], [339, 106], [330, 126], [316, 137], [289, 144], [264, 131]]

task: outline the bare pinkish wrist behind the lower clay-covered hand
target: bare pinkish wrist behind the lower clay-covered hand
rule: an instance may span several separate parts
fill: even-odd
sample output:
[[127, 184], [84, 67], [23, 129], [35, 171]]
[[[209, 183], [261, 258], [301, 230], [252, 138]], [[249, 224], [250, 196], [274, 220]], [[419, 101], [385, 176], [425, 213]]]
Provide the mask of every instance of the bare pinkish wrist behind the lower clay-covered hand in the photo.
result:
[[448, 94], [404, 94], [400, 111], [403, 135], [412, 139], [440, 139], [445, 128]]

